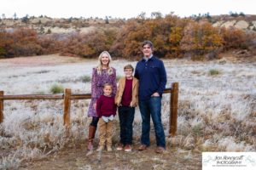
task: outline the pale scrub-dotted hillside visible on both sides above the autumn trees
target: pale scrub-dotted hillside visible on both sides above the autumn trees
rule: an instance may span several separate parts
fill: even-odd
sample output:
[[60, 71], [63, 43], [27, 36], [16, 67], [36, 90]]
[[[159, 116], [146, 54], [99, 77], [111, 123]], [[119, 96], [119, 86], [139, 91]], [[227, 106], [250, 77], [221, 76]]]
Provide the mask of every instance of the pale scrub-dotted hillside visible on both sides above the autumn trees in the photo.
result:
[[[256, 31], [256, 15], [215, 15], [215, 16], [191, 16], [195, 20], [209, 19], [212, 26], [230, 27], [246, 31]], [[120, 27], [125, 24], [125, 19], [99, 18], [69, 18], [57, 19], [47, 16], [23, 17], [20, 19], [0, 19], [0, 29], [14, 31], [16, 28], [27, 27], [34, 29], [40, 34], [50, 33], [87, 33], [96, 27]]]

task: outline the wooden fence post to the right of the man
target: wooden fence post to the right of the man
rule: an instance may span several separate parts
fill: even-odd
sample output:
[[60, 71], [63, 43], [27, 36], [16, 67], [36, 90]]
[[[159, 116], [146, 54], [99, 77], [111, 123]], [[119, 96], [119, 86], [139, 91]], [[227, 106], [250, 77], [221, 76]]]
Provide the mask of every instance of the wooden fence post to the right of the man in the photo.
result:
[[178, 82], [172, 83], [171, 104], [170, 104], [170, 135], [175, 136], [177, 131], [177, 98], [178, 98]]

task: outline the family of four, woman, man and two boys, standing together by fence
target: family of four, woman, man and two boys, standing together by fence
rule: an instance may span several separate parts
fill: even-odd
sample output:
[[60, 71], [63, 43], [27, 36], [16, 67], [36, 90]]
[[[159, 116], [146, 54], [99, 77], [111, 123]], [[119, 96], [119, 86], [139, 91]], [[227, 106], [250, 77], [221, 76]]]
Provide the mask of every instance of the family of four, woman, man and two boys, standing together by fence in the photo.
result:
[[[147, 150], [150, 140], [150, 116], [154, 122], [156, 153], [166, 150], [166, 137], [161, 122], [161, 96], [166, 87], [166, 69], [162, 60], [153, 54], [150, 41], [142, 43], [143, 59], [125, 65], [125, 77], [116, 83], [116, 70], [110, 65], [111, 55], [103, 51], [99, 65], [93, 68], [91, 101], [88, 116], [92, 117], [88, 133], [88, 150], [93, 150], [93, 139], [99, 127], [100, 142], [97, 151], [112, 151], [113, 117], [118, 110], [120, 142], [117, 150], [131, 151], [132, 124], [135, 107], [138, 105], [143, 119], [141, 145], [138, 150]], [[134, 72], [134, 77], [132, 76]]]

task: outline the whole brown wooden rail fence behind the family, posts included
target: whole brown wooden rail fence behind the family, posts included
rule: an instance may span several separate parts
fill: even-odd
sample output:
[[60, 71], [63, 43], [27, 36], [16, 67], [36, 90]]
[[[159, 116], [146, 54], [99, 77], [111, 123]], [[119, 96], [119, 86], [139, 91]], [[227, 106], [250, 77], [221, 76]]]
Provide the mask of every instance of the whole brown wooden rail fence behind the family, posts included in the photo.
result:
[[[166, 88], [164, 94], [171, 94], [170, 97], [170, 129], [169, 134], [174, 136], [177, 131], [177, 98], [178, 98], [178, 83], [173, 82], [172, 88]], [[20, 100], [20, 99], [64, 99], [64, 125], [70, 127], [70, 105], [72, 99], [90, 99], [90, 94], [72, 94], [70, 88], [65, 89], [64, 94], [22, 94], [22, 95], [4, 95], [0, 91], [0, 123], [3, 122], [3, 101], [4, 100]]]

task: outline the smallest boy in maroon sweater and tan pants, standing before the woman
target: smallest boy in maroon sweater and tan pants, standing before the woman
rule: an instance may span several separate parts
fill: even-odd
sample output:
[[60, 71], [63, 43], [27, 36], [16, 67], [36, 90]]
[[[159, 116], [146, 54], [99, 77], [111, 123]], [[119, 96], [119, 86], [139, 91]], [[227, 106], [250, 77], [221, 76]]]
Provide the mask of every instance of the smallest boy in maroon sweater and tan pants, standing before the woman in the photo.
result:
[[112, 151], [113, 116], [116, 114], [116, 105], [111, 96], [113, 86], [104, 84], [103, 95], [96, 102], [96, 113], [100, 120], [98, 122], [100, 132], [100, 143], [97, 151], [102, 151], [107, 143], [107, 150]]

